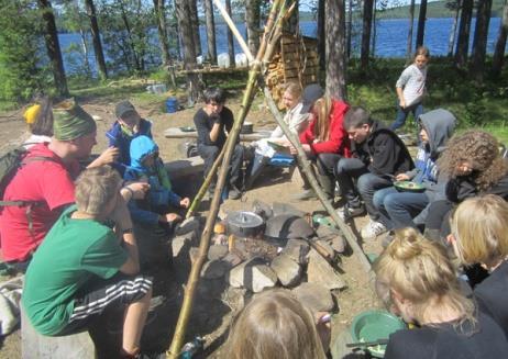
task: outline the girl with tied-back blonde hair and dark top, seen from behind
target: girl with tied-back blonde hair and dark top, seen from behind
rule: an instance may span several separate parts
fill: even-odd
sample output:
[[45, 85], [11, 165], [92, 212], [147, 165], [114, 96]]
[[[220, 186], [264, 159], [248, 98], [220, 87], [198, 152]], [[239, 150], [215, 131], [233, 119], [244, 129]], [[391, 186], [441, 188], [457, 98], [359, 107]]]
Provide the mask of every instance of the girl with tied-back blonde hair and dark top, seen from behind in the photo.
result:
[[417, 325], [390, 335], [385, 359], [503, 358], [503, 329], [477, 312], [460, 290], [445, 248], [413, 228], [397, 229], [375, 262], [377, 289], [405, 322]]

